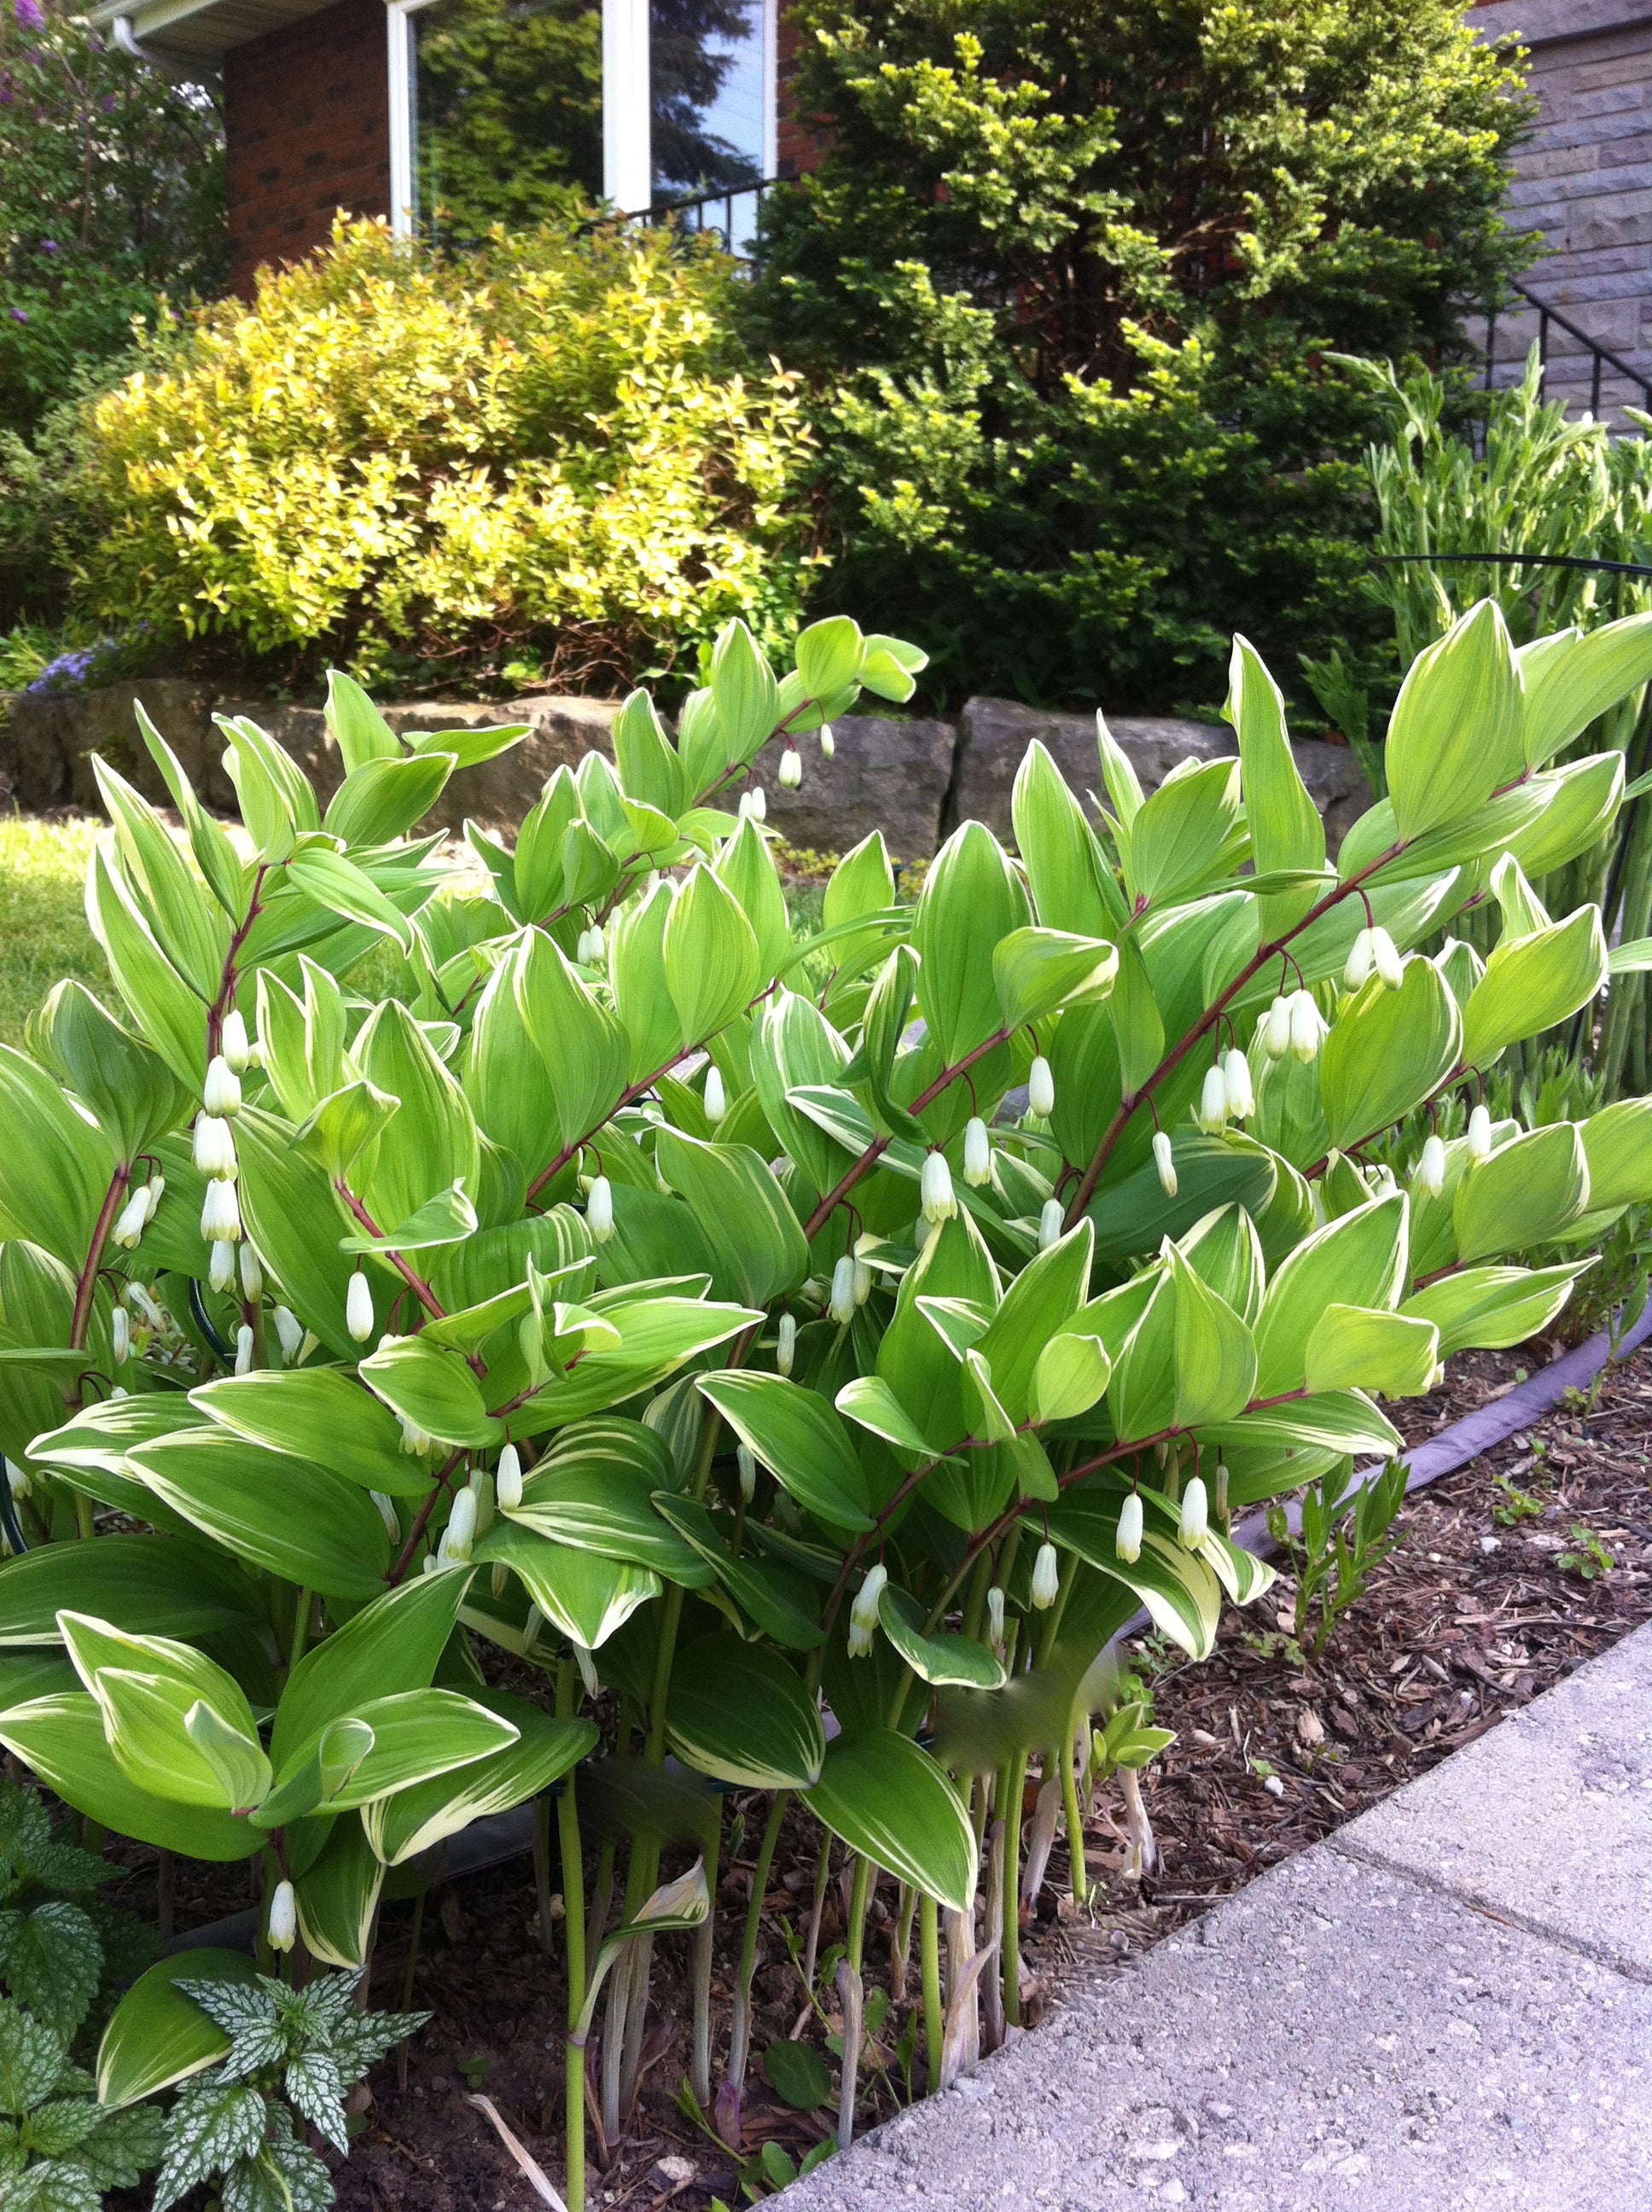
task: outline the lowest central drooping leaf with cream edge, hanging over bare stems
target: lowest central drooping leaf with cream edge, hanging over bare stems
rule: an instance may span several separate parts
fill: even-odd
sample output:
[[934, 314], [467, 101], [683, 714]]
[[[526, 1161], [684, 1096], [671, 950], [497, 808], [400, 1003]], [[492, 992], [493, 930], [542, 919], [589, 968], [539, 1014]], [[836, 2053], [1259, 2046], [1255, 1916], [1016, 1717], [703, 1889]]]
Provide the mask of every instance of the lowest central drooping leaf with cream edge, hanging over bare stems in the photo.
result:
[[955, 1913], [971, 1909], [975, 1832], [949, 1776], [911, 1739], [889, 1728], [838, 1736], [805, 1803], [874, 1867]]

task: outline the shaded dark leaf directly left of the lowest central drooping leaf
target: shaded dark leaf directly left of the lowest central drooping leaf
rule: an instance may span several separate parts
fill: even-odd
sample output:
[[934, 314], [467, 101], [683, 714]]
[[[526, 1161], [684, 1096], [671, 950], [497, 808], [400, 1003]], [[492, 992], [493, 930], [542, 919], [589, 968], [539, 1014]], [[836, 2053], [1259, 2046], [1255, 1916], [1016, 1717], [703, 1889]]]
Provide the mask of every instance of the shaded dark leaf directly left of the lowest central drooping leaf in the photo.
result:
[[816, 1699], [778, 1652], [710, 1635], [677, 1655], [666, 1703], [677, 1756], [736, 1790], [812, 1790], [825, 1732]]

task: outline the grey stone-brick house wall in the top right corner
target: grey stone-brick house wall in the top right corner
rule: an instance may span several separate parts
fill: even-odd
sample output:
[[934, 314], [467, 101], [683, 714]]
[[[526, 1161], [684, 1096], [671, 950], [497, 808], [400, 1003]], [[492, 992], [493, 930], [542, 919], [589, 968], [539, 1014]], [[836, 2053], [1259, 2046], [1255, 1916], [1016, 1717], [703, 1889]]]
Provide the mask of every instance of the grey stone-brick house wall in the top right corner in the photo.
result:
[[[1484, 38], [1517, 35], [1539, 102], [1515, 155], [1508, 221], [1535, 230], [1524, 283], [1561, 307], [1597, 345], [1652, 372], [1652, 13], [1645, 0], [1482, 0]], [[1495, 352], [1508, 363], [1537, 336], [1537, 316], [1499, 319]], [[1588, 405], [1588, 358], [1550, 330], [1555, 398]], [[1601, 387], [1601, 411], [1639, 392]]]

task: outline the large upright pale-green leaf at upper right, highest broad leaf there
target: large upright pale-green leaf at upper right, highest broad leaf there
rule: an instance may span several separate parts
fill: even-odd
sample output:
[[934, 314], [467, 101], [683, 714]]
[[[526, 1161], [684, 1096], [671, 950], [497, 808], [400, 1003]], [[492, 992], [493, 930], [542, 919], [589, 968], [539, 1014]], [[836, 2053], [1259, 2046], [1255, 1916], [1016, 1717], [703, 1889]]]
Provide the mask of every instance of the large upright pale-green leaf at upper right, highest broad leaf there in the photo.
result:
[[1526, 770], [1524, 688], [1495, 599], [1462, 615], [1415, 657], [1384, 748], [1402, 838], [1473, 816]]

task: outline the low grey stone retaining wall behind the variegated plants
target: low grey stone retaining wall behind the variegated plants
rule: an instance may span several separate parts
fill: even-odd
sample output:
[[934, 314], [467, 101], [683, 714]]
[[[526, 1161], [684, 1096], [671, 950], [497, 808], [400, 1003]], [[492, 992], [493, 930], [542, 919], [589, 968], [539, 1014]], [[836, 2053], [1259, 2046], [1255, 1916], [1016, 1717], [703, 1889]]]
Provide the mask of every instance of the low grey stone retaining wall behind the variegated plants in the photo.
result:
[[[210, 807], [234, 807], [215, 712], [250, 714], [314, 776], [323, 801], [338, 785], [338, 748], [321, 708], [223, 699], [181, 677], [146, 677], [93, 692], [15, 695], [9, 719], [0, 721], [0, 794], [27, 810], [97, 812], [91, 754], [102, 754], [164, 803], [166, 787], [137, 734], [137, 701]], [[613, 717], [613, 701], [544, 695], [482, 706], [416, 701], [385, 710], [396, 730], [529, 723], [529, 737], [511, 752], [460, 770], [429, 818], [429, 827], [458, 830], [473, 816], [504, 832], [522, 821], [557, 768], [577, 765], [593, 748], [610, 752]], [[1225, 723], [1121, 717], [1110, 728], [1146, 790], [1157, 790], [1188, 754], [1212, 761], [1236, 750]], [[1048, 745], [1079, 796], [1101, 783], [1092, 714], [1050, 714], [1011, 699], [971, 699], [955, 726], [849, 714], [834, 726], [834, 734], [832, 761], [820, 759], [814, 739], [803, 739], [803, 787], [796, 792], [781, 790], [778, 743], [759, 757], [770, 823], [790, 845], [812, 852], [847, 852], [871, 830], [882, 830], [898, 858], [927, 860], [971, 816], [1008, 836], [1011, 787], [1033, 739]], [[1342, 745], [1305, 743], [1294, 750], [1336, 852], [1349, 823], [1371, 803], [1360, 765]]]

